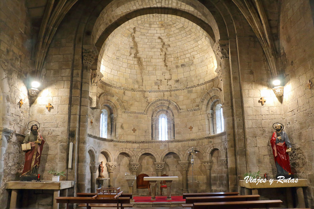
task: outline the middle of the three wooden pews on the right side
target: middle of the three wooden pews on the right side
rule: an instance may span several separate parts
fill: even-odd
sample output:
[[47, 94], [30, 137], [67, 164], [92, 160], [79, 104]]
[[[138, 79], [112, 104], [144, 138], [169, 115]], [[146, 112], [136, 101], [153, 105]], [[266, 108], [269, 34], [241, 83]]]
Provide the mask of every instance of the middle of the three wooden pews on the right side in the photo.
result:
[[235, 196], [213, 196], [213, 197], [186, 197], [182, 207], [193, 207], [196, 202], [231, 202], [231, 201], [256, 201], [259, 195], [235, 195]]

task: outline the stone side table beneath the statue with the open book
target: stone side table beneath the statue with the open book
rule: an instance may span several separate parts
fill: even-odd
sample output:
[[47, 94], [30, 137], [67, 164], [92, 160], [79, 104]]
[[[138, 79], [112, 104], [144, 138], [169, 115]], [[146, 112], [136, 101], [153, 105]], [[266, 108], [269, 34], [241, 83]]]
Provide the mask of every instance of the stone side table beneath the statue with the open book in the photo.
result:
[[60, 190], [68, 189], [74, 186], [74, 181], [8, 181], [6, 189], [12, 189], [10, 208], [16, 208], [16, 199], [19, 189], [49, 189], [53, 190], [53, 209], [59, 209], [59, 203], [56, 201], [56, 197], [60, 196]]

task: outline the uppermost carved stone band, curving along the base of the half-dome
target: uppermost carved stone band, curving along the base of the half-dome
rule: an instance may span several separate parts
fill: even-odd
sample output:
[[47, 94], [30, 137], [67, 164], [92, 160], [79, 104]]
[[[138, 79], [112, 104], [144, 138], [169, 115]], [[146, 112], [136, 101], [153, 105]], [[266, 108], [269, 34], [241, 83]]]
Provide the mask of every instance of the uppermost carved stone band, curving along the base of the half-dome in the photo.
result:
[[105, 81], [100, 80], [100, 83], [104, 86], [108, 86], [110, 88], [114, 88], [114, 89], [118, 89], [118, 90], [122, 90], [122, 91], [133, 91], [133, 92], [141, 92], [141, 93], [162, 93], [162, 92], [173, 92], [173, 91], [183, 91], [183, 90], [187, 90], [187, 89], [192, 89], [192, 88], [196, 88], [199, 86], [204, 86], [208, 83], [211, 83], [215, 80], [218, 80], [219, 76], [214, 77], [213, 79], [210, 79], [209, 81], [205, 81], [196, 85], [192, 85], [192, 86], [187, 86], [185, 88], [175, 88], [175, 89], [133, 89], [133, 88], [125, 88], [125, 87], [121, 87], [121, 86], [115, 86], [109, 83], [106, 83]]

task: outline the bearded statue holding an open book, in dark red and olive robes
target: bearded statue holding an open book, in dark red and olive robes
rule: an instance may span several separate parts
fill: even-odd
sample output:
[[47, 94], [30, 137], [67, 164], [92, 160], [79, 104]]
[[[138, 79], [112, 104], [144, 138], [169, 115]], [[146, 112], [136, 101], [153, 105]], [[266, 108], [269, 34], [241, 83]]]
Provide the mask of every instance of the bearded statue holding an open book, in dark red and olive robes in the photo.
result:
[[21, 181], [31, 181], [37, 179], [42, 148], [45, 144], [41, 134], [37, 131], [39, 127], [39, 123], [38, 125], [33, 124], [30, 128], [30, 132], [27, 133], [24, 138], [22, 150], [25, 151], [25, 163], [20, 178]]

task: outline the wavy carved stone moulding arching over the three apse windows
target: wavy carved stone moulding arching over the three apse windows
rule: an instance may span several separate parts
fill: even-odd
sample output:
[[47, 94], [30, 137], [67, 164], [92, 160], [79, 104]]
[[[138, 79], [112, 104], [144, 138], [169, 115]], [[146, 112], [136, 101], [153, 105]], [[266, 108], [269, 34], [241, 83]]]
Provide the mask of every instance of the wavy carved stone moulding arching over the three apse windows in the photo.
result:
[[191, 108], [191, 109], [186, 109], [186, 110], [181, 110], [180, 107], [176, 104], [176, 102], [173, 102], [173, 101], [170, 100], [170, 99], [164, 99], [164, 98], [163, 98], [163, 99], [156, 99], [156, 100], [150, 102], [150, 103], [148, 104], [148, 106], [145, 108], [145, 111], [143, 111], [143, 112], [125, 110], [125, 107], [124, 107], [122, 101], [120, 100], [120, 98], [117, 97], [117, 96], [114, 95], [114, 94], [111, 94], [111, 93], [102, 93], [102, 94], [100, 95], [99, 99], [100, 99], [101, 97], [104, 97], [104, 96], [108, 96], [108, 97], [114, 98], [114, 99], [118, 102], [120, 108], [122, 109], [122, 112], [123, 112], [123, 113], [127, 113], [127, 114], [146, 115], [147, 112], [148, 112], [148, 110], [149, 110], [149, 108], [150, 108], [154, 103], [156, 103], [156, 102], [168, 102], [168, 103], [170, 103], [171, 105], [173, 105], [173, 106], [176, 108], [176, 110], [177, 110], [178, 113], [185, 113], [185, 112], [192, 112], [192, 111], [201, 110], [202, 105], [203, 105], [203, 103], [204, 103], [206, 97], [208, 97], [208, 96], [210, 95], [210, 93], [213, 92], [213, 91], [219, 91], [219, 92], [221, 92], [221, 89], [215, 88], [215, 87], [212, 88], [212, 89], [210, 89], [209, 91], [207, 91], [207, 92], [203, 95], [203, 97], [201, 98], [201, 100], [200, 100], [200, 102], [199, 102], [199, 104], [198, 104], [198, 107]]

